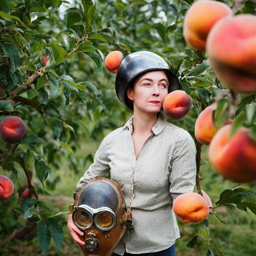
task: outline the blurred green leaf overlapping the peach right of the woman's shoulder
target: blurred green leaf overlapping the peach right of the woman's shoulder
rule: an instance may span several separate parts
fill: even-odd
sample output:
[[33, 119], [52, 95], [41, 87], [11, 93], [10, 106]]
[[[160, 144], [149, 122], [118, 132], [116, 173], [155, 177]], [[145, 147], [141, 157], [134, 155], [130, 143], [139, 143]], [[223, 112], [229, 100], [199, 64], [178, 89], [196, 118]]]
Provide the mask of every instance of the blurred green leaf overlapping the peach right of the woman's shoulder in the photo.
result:
[[217, 103], [217, 109], [213, 111], [215, 127], [218, 130], [227, 121], [229, 102], [222, 98]]

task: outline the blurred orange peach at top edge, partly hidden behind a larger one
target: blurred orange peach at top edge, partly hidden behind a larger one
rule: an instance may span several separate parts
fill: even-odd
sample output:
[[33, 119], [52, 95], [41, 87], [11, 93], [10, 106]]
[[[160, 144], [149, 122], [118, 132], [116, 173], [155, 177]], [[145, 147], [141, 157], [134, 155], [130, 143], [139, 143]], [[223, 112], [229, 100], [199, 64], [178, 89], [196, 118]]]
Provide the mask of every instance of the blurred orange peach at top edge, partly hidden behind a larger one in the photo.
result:
[[213, 0], [199, 0], [188, 9], [184, 18], [183, 35], [188, 45], [205, 51], [205, 41], [213, 25], [225, 16], [232, 15], [231, 8]]

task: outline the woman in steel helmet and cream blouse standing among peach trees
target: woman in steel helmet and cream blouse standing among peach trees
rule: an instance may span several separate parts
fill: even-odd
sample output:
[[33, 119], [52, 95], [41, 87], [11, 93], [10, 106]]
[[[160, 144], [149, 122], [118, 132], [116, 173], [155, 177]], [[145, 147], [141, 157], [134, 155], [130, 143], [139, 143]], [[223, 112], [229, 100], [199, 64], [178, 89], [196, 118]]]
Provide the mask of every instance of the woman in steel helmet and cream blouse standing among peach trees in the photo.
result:
[[[109, 172], [121, 188], [133, 229], [126, 230], [113, 256], [175, 255], [180, 232], [172, 203], [177, 196], [193, 192], [196, 184], [195, 143], [187, 131], [161, 114], [165, 96], [178, 86], [164, 59], [152, 52], [131, 53], [117, 72], [117, 96], [133, 116], [103, 139], [76, 188], [80, 191], [93, 177]], [[83, 232], [71, 217], [69, 232], [84, 245], [77, 235]]]

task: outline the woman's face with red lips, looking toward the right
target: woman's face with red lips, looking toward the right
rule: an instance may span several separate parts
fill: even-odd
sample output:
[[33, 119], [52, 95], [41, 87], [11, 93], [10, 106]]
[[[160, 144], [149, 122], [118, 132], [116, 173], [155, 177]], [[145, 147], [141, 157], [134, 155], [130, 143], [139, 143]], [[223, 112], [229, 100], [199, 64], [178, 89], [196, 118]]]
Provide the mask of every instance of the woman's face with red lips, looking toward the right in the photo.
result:
[[[134, 84], [133, 90], [128, 89], [128, 98], [133, 100], [133, 109], [144, 112], [160, 112], [164, 98], [168, 94], [169, 81], [164, 71], [143, 73]], [[160, 101], [158, 104], [150, 101]]]

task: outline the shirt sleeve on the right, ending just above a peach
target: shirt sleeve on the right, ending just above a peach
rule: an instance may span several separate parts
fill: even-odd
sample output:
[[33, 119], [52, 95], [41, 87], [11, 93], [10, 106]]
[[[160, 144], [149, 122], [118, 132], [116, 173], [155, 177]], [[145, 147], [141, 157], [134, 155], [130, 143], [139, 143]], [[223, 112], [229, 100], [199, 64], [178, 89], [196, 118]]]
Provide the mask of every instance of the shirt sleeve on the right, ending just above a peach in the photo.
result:
[[193, 192], [196, 184], [196, 146], [191, 135], [176, 141], [171, 159], [169, 192], [173, 201], [181, 194]]

